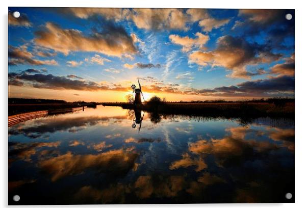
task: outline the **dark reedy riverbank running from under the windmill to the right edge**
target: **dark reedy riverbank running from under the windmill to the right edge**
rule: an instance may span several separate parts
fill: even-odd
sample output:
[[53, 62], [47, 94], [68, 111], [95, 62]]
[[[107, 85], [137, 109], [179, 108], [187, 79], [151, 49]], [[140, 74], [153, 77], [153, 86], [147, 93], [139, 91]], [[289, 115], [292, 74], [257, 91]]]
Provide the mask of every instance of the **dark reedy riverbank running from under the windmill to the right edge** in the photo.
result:
[[270, 102], [163, 102], [158, 105], [105, 102], [104, 106], [137, 109], [160, 114], [197, 115], [225, 118], [293, 118], [294, 102], [276, 105]]

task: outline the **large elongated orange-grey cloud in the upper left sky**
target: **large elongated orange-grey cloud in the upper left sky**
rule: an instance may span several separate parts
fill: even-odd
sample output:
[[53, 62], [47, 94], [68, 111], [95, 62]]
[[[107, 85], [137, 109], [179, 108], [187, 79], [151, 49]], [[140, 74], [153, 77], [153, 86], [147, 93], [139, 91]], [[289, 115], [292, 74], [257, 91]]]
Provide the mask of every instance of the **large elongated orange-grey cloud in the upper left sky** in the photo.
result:
[[137, 53], [132, 37], [121, 26], [111, 23], [106, 23], [101, 32], [84, 35], [79, 30], [62, 29], [57, 24], [47, 22], [42, 30], [35, 32], [34, 42], [64, 55], [71, 51], [94, 51], [115, 57]]

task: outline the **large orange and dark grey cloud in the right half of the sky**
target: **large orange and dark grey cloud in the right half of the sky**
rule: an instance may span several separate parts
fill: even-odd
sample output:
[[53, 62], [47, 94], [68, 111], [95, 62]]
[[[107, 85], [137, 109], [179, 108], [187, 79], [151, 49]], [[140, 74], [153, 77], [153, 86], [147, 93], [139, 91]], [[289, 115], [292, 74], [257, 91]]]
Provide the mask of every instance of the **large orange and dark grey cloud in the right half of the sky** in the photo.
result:
[[[232, 70], [227, 75], [233, 78], [250, 78], [255, 73], [246, 70], [247, 65], [257, 65], [277, 61], [281, 54], [273, 54], [265, 45], [248, 43], [241, 37], [222, 36], [213, 51], [194, 51], [189, 55], [189, 62], [201, 66], [223, 66]], [[260, 72], [261, 73], [261, 72]]]

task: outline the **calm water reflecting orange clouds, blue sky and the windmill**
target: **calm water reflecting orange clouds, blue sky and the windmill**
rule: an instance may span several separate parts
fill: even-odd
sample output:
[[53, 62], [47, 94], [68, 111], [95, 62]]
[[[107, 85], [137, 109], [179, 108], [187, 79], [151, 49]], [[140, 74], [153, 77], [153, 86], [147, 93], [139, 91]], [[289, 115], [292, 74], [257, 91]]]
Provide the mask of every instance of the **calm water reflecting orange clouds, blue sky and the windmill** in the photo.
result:
[[99, 105], [16, 124], [9, 203], [293, 202], [294, 122], [240, 123]]

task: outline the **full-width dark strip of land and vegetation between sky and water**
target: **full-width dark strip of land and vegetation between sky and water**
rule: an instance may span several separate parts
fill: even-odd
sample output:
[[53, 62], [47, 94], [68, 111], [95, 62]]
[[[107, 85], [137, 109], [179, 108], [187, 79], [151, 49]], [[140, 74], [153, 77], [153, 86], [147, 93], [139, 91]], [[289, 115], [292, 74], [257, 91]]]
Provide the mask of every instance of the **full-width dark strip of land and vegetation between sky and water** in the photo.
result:
[[89, 107], [96, 105], [116, 106], [123, 109], [142, 110], [161, 115], [188, 115], [224, 118], [290, 118], [294, 119], [293, 98], [252, 99], [244, 101], [189, 101], [169, 102], [154, 96], [142, 104], [133, 102], [66, 102], [56, 99], [9, 98], [9, 116], [20, 113], [63, 110], [67, 108]]

